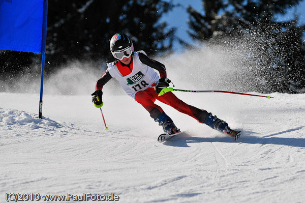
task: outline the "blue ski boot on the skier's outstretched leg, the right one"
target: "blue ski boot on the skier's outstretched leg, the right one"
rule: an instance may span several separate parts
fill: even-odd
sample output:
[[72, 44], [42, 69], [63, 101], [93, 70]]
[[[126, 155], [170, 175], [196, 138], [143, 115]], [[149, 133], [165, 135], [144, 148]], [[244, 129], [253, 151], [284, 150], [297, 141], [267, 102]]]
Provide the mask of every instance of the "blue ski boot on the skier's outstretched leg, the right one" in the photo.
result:
[[208, 116], [204, 122], [206, 125], [224, 134], [230, 135], [235, 141], [238, 139], [241, 134], [240, 131], [232, 130], [225, 121], [217, 118], [216, 115], [212, 115], [212, 113], [208, 113], [207, 115]]

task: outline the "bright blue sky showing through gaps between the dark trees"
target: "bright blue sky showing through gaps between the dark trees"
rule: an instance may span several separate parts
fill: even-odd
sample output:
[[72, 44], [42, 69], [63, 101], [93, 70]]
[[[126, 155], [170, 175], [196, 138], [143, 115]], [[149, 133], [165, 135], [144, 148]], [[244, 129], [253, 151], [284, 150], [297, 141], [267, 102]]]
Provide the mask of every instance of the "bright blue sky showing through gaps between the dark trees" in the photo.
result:
[[[185, 41], [189, 43], [194, 43], [191, 37], [187, 34], [187, 30], [189, 30], [187, 21], [189, 19], [189, 15], [186, 12], [186, 7], [191, 5], [198, 11], [202, 12], [202, 1], [201, 0], [173, 0], [174, 4], [181, 4], [184, 8], [177, 7], [174, 8], [168, 14], [165, 14], [162, 20], [166, 21], [169, 27], [177, 27], [176, 36], [183, 38]], [[283, 16], [278, 16], [278, 19], [281, 21], [286, 21], [290, 19], [294, 19], [295, 13], [299, 15], [299, 22], [301, 24], [305, 24], [305, 0], [300, 2], [300, 4], [296, 7], [292, 7], [287, 13]], [[181, 46], [178, 42], [174, 43], [174, 49], [178, 51]]]

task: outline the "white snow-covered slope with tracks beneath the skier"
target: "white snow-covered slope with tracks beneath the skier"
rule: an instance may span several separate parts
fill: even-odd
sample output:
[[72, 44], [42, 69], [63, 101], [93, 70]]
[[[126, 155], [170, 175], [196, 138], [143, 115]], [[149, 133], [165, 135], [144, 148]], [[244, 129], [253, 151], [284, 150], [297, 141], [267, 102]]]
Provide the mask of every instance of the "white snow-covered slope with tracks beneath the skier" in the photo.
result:
[[305, 94], [176, 95], [242, 130], [239, 141], [161, 104], [187, 131], [161, 144], [162, 129], [128, 96], [105, 96], [105, 131], [90, 96], [45, 95], [41, 120], [38, 95], [0, 93], [0, 202], [7, 192], [114, 193], [119, 202], [304, 201]]

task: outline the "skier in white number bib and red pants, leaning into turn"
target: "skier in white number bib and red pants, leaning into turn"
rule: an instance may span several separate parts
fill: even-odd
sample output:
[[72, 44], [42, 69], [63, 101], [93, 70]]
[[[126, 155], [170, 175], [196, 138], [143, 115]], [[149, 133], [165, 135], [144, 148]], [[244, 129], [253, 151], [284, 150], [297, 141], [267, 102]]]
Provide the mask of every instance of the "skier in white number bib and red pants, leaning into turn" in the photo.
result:
[[[165, 66], [150, 59], [144, 51], [134, 51], [133, 43], [126, 34], [117, 33], [112, 36], [110, 51], [115, 61], [107, 64], [108, 69], [97, 80], [96, 91], [92, 94], [92, 101], [97, 108], [103, 106], [103, 86], [114, 77], [124, 91], [140, 103], [149, 112], [150, 117], [158, 122], [168, 135], [180, 132], [180, 130], [163, 109], [154, 103], [156, 99], [190, 115], [200, 123], [231, 135], [235, 140], [238, 138], [240, 132], [230, 129], [226, 122], [206, 110], [186, 104], [172, 92], [159, 97], [158, 93], [163, 88], [168, 87], [171, 82], [167, 78]], [[159, 72], [160, 77], [155, 70]]]

